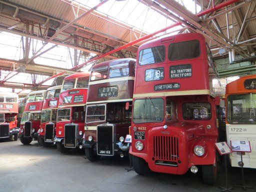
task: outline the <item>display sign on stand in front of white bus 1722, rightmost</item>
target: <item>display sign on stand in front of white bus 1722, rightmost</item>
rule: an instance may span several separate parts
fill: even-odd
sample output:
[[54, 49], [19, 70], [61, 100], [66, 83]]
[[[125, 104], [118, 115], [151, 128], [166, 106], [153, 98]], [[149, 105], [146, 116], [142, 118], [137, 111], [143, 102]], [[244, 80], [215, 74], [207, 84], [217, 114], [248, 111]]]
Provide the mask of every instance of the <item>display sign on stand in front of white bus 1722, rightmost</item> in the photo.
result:
[[242, 170], [242, 183], [241, 183], [241, 185], [235, 185], [235, 186], [242, 187], [244, 190], [246, 190], [246, 188], [254, 188], [253, 186], [245, 186], [244, 173], [243, 173], [243, 165], [244, 164], [242, 162], [242, 154], [244, 152], [251, 152], [250, 141], [248, 141], [248, 140], [230, 140], [230, 145], [231, 145], [232, 151], [239, 152], [240, 156], [241, 156], [241, 161], [238, 162], [238, 166], [240, 166], [241, 170]]

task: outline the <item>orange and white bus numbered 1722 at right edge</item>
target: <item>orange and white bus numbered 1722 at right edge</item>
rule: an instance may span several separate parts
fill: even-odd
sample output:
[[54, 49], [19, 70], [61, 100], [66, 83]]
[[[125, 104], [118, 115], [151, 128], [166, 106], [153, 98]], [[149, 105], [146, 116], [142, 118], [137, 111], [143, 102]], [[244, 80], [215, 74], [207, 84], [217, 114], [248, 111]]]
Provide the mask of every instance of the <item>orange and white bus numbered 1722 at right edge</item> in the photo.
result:
[[[226, 85], [226, 138], [248, 140], [251, 152], [242, 155], [243, 167], [256, 168], [256, 75], [240, 77]], [[241, 157], [230, 155], [231, 166], [239, 167]]]

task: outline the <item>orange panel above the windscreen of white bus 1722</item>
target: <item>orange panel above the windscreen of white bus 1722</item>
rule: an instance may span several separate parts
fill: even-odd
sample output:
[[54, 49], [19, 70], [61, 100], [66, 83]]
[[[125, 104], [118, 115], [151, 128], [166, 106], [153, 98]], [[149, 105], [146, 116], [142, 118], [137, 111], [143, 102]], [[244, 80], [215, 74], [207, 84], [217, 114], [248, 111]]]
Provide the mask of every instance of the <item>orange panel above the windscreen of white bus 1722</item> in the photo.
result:
[[[244, 81], [246, 79], [256, 79], [256, 74], [253, 75], [247, 75], [247, 76], [242, 76], [232, 82], [229, 82], [226, 85], [226, 94], [231, 94], [231, 93], [246, 93], [246, 92], [256, 92], [256, 89], [246, 89]], [[255, 84], [256, 86], [256, 84]]]

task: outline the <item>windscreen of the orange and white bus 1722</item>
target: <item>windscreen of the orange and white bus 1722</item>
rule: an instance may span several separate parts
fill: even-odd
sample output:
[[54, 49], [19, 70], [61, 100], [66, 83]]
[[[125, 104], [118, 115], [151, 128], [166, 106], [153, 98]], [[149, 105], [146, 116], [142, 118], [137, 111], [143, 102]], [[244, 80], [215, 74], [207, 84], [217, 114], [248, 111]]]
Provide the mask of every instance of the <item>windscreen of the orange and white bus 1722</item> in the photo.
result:
[[230, 124], [256, 124], [256, 93], [227, 96], [227, 121]]

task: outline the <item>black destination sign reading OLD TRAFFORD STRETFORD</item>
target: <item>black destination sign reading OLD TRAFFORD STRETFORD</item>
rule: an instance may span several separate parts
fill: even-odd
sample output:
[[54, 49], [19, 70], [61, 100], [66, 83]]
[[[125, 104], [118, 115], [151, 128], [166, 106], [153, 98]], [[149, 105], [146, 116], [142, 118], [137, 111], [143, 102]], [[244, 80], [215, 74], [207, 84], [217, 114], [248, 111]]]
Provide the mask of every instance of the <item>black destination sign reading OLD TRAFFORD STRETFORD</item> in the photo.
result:
[[191, 64], [170, 66], [170, 78], [186, 78], [192, 76]]

